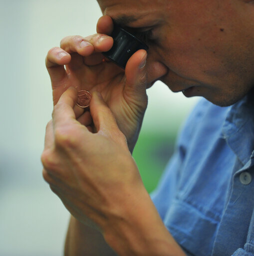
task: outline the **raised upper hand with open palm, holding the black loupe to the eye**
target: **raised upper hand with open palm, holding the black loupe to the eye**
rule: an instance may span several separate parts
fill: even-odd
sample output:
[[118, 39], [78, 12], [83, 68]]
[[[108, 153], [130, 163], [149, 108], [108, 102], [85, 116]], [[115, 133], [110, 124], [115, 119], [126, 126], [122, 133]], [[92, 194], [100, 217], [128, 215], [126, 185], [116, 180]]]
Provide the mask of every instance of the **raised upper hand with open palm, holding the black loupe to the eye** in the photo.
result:
[[[98, 20], [96, 34], [64, 37], [60, 47], [48, 51], [46, 67], [51, 79], [54, 105], [69, 86], [77, 90], [99, 91], [132, 152], [147, 107], [147, 52], [143, 49], [135, 52], [125, 70], [105, 60], [101, 52], [113, 45], [112, 37], [107, 35], [112, 29], [111, 17], [102, 16]], [[81, 115], [83, 109], [77, 106], [75, 112]]]

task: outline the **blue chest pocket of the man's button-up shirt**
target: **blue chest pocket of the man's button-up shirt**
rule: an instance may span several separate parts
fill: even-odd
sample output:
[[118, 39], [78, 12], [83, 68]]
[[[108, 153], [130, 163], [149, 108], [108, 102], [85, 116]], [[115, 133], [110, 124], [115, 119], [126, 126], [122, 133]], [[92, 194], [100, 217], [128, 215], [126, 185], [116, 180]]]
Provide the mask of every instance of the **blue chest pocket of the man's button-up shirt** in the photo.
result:
[[188, 255], [212, 254], [218, 221], [205, 215], [198, 207], [174, 199], [164, 223]]

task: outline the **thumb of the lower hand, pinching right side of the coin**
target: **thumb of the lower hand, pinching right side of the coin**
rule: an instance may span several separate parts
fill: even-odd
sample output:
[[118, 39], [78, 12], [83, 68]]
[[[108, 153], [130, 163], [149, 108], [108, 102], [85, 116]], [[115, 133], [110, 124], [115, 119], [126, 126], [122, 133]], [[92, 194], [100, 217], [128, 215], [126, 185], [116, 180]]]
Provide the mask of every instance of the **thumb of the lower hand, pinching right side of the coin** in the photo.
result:
[[119, 129], [112, 111], [98, 91], [92, 93], [90, 112], [97, 132], [102, 130], [109, 134], [112, 130]]

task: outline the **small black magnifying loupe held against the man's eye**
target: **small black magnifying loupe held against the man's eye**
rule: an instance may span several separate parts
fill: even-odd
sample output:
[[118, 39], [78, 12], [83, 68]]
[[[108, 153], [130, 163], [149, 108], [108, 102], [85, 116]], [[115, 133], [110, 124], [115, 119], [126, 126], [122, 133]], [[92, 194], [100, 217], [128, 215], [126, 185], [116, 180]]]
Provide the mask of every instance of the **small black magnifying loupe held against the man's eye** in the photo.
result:
[[125, 68], [128, 59], [134, 52], [139, 49], [148, 50], [148, 46], [144, 42], [115, 23], [110, 36], [114, 40], [113, 46], [102, 54], [122, 68]]

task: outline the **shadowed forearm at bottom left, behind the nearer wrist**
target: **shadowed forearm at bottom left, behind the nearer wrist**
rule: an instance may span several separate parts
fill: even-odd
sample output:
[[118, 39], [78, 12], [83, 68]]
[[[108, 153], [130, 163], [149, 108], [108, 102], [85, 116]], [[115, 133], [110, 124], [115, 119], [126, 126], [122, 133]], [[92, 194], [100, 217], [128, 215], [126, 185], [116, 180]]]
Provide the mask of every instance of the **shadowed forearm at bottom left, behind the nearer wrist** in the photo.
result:
[[65, 256], [115, 256], [115, 252], [105, 242], [96, 229], [84, 225], [71, 216], [65, 239]]

